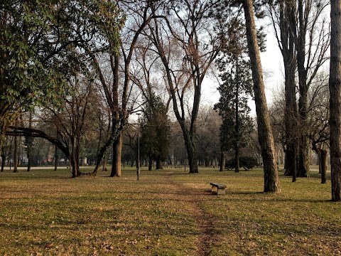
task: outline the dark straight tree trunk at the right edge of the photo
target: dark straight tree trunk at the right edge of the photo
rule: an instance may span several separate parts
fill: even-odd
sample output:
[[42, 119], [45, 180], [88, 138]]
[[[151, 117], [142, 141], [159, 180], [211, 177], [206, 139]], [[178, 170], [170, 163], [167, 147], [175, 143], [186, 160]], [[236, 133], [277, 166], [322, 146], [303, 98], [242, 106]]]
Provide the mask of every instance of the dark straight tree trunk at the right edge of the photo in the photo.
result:
[[341, 201], [341, 0], [330, 1], [330, 168], [332, 201]]

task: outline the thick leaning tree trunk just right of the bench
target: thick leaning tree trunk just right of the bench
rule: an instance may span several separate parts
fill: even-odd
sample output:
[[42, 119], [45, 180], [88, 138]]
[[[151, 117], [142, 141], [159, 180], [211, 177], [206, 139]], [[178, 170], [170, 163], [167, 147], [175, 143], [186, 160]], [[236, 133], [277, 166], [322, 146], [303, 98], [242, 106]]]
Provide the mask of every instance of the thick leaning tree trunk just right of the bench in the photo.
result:
[[254, 100], [258, 124], [258, 139], [261, 145], [261, 155], [264, 163], [264, 192], [280, 192], [276, 150], [271, 131], [269, 110], [266, 105], [261, 57], [256, 35], [254, 9], [252, 0], [244, 0], [243, 8], [247, 26], [247, 45], [251, 62], [252, 78], [254, 82]]

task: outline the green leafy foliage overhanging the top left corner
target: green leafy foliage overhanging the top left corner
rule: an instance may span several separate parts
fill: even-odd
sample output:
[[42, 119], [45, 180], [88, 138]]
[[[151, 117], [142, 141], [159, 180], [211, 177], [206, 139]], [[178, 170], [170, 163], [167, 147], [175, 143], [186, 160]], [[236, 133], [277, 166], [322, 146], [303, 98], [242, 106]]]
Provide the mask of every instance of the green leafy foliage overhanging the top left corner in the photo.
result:
[[[112, 42], [124, 17], [116, 2], [1, 1], [0, 148], [6, 129], [34, 105], [58, 103], [93, 51]], [[92, 51], [80, 46], [92, 46]]]

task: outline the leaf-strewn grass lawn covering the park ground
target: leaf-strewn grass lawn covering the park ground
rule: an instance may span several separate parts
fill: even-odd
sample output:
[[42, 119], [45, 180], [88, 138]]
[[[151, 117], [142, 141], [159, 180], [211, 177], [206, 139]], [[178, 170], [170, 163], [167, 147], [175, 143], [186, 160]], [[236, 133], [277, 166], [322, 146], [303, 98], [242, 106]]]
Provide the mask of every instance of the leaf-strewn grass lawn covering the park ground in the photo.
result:
[[[0, 174], [0, 255], [340, 255], [341, 203], [330, 181], [261, 169], [146, 171], [70, 178], [67, 169]], [[210, 182], [227, 185], [226, 195]]]

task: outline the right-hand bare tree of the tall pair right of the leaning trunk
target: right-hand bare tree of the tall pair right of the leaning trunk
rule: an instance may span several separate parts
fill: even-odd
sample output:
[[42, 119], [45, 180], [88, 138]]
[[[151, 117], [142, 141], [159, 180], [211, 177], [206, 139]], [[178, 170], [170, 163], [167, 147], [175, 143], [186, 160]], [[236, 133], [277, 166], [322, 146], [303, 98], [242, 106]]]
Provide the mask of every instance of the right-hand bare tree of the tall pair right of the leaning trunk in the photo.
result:
[[[296, 21], [296, 61], [298, 68], [298, 85], [300, 98], [298, 114], [300, 117], [300, 148], [298, 176], [306, 177], [309, 172], [309, 141], [305, 129], [308, 121], [308, 89], [315, 75], [326, 60], [329, 48], [329, 23], [323, 17], [323, 11], [329, 5], [327, 0], [298, 0], [298, 21]], [[307, 40], [308, 38], [308, 40]]]

